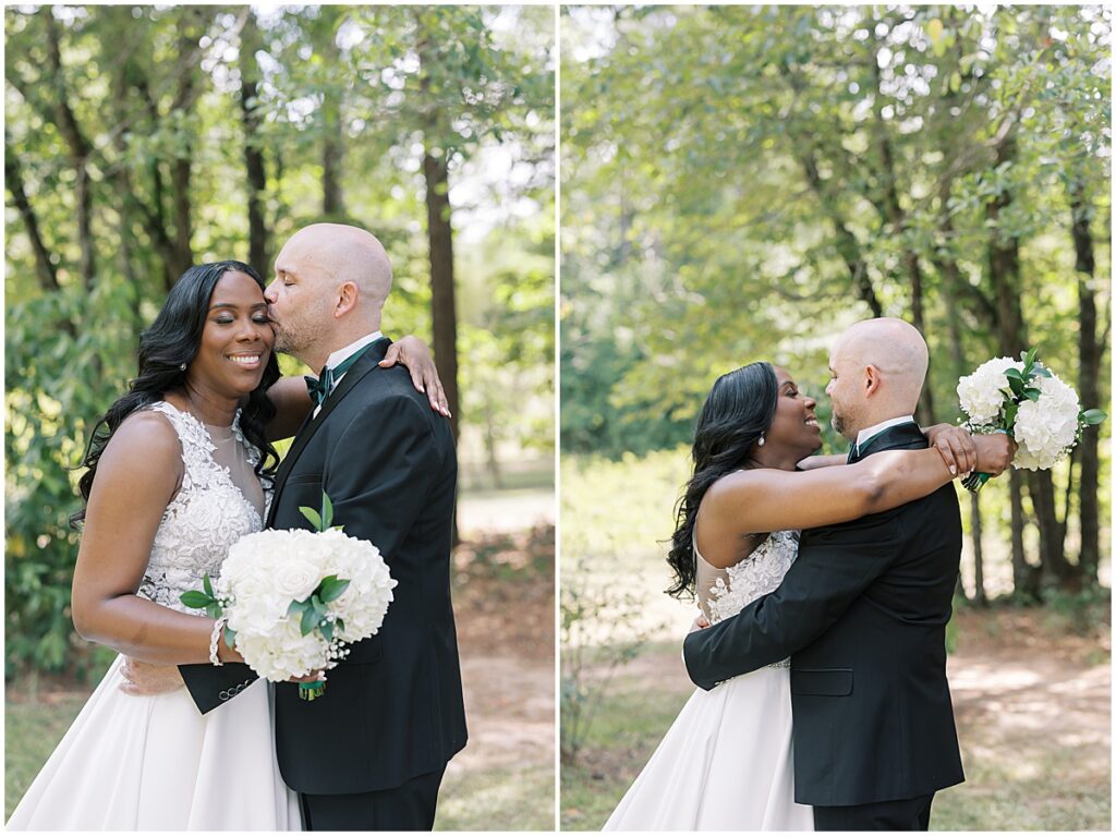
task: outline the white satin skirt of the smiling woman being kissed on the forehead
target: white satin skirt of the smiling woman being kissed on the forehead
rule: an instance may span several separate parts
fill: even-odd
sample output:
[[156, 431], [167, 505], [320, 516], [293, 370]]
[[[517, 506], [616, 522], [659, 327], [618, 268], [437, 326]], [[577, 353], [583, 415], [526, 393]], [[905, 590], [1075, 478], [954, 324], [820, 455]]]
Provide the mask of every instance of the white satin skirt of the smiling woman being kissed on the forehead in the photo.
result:
[[185, 688], [129, 696], [117, 657], [8, 820], [10, 830], [299, 830], [268, 684], [201, 714]]

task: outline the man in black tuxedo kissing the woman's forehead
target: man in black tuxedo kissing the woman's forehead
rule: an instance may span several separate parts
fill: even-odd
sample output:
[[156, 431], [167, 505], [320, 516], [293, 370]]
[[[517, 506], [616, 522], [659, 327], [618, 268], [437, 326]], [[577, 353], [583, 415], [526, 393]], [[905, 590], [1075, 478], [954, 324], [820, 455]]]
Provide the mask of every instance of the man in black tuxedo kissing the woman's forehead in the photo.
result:
[[[323, 374], [311, 386], [318, 406], [276, 474], [267, 526], [310, 528], [298, 509], [319, 508], [326, 492], [335, 525], [375, 544], [398, 582], [379, 633], [328, 672], [324, 696], [276, 686], [279, 768], [307, 829], [430, 830], [445, 766], [465, 744], [450, 602], [453, 436], [403, 368], [378, 365], [392, 282], [379, 241], [314, 224], [287, 242], [276, 273], [264, 295], [276, 350]], [[243, 665], [181, 670], [203, 710], [254, 678]]]

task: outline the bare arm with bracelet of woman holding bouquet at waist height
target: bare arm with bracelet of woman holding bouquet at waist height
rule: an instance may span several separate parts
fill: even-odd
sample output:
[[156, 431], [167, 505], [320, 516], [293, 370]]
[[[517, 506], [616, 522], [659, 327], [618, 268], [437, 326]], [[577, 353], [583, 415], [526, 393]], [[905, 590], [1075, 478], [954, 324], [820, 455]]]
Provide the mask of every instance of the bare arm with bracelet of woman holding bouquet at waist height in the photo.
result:
[[[210, 661], [212, 618], [136, 595], [181, 479], [179, 439], [165, 419], [140, 413], [121, 424], [97, 465], [74, 569], [74, 626], [83, 638], [144, 662]], [[223, 640], [219, 655], [241, 660]]]

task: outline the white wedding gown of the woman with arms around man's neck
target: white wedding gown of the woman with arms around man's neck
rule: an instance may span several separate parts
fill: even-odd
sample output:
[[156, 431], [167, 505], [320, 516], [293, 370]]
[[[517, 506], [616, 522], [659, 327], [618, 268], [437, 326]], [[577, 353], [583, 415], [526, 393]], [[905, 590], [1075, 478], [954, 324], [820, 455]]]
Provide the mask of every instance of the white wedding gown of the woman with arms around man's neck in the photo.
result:
[[[777, 531], [729, 569], [698, 554], [698, 600], [711, 622], [773, 590], [798, 554]], [[812, 830], [795, 804], [790, 662], [698, 689], [635, 779], [605, 830]]]

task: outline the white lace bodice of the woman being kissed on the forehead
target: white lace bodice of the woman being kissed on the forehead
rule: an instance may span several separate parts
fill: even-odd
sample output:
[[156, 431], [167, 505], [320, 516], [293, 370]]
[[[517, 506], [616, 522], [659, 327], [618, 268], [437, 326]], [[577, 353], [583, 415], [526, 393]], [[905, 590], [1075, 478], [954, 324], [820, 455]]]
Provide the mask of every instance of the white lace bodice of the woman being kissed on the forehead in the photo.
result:
[[[233, 482], [230, 470], [213, 459], [217, 446], [196, 417], [165, 401], [148, 409], [165, 415], [182, 444], [182, 487], [163, 512], [138, 595], [184, 613], [179, 596], [200, 589], [202, 575], [219, 574], [229, 547], [263, 527], [260, 511]], [[259, 451], [240, 432], [240, 412], [232, 423], [238, 454], [256, 465]]]

